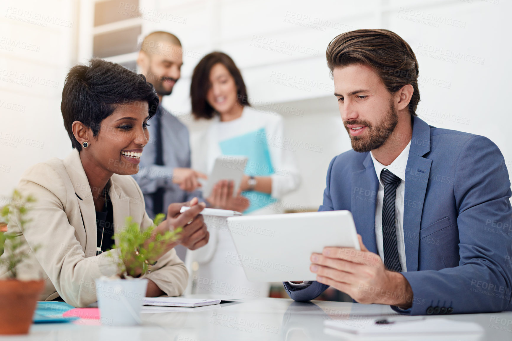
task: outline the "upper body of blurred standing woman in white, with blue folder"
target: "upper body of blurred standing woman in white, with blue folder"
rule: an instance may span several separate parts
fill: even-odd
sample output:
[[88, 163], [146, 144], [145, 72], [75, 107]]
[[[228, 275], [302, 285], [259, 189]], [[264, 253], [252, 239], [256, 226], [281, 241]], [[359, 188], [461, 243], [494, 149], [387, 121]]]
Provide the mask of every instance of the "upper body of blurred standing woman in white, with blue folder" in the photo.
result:
[[285, 143], [281, 115], [251, 108], [240, 70], [222, 52], [209, 53], [199, 61], [190, 97], [194, 117], [211, 122], [201, 147], [194, 151], [195, 167], [209, 173], [219, 156], [247, 156], [241, 189], [250, 206], [244, 213], [280, 212], [272, 204], [301, 182], [295, 156]]

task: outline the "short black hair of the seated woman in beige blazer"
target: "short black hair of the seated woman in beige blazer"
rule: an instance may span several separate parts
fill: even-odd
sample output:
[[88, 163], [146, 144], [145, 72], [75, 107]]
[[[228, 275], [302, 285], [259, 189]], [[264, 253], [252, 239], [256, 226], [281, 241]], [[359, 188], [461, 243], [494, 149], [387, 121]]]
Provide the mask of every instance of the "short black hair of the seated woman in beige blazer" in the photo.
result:
[[155, 115], [158, 95], [144, 75], [99, 58], [91, 59], [89, 65], [72, 67], [62, 89], [60, 111], [73, 148], [82, 150], [73, 135], [74, 121], [82, 122], [97, 136], [103, 119], [119, 105], [133, 101], [147, 102], [150, 118]]

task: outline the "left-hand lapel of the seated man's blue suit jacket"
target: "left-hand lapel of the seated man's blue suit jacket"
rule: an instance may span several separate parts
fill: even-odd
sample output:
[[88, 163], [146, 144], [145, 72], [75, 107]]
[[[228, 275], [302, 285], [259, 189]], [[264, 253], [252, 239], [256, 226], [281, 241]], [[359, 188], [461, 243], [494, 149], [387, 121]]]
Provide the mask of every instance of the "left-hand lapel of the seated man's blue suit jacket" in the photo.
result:
[[377, 253], [375, 205], [379, 183], [370, 153], [363, 165], [365, 169], [352, 173], [352, 216], [362, 243], [369, 251]]

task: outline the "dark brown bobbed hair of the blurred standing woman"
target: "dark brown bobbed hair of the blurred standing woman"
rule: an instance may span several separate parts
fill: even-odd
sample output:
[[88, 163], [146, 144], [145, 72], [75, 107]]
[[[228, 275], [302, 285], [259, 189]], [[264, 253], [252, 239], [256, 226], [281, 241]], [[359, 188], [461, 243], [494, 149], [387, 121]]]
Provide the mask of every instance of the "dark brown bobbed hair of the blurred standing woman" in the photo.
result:
[[247, 100], [247, 90], [240, 70], [233, 59], [223, 52], [211, 52], [203, 57], [194, 68], [190, 83], [190, 98], [192, 102], [192, 114], [196, 119], [210, 119], [215, 116], [215, 110], [206, 100], [206, 94], [210, 88], [210, 71], [217, 63], [226, 67], [234, 83], [237, 84], [237, 101], [239, 105], [250, 106]]

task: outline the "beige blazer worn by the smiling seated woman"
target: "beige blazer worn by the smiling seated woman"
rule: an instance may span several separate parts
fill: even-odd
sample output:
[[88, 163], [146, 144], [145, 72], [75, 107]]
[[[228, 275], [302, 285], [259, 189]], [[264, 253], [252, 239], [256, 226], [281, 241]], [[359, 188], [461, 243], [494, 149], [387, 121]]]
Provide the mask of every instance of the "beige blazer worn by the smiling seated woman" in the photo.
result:
[[[141, 228], [152, 223], [142, 192], [131, 176], [114, 174], [109, 185], [114, 232], [123, 228], [127, 216], [140, 222]], [[30, 247], [23, 250], [28, 257], [17, 268], [20, 275], [42, 275], [46, 281], [42, 301], [60, 296], [75, 307], [97, 301], [94, 280], [117, 272], [114, 261], [118, 252], [113, 249], [96, 255], [96, 211], [78, 151], [73, 150], [64, 160], [53, 158], [30, 167], [17, 188], [36, 199], [28, 214], [31, 222], [21, 237]], [[9, 223], [8, 231], [19, 232], [16, 221]], [[188, 272], [173, 249], [158, 260], [145, 278], [167, 295], [178, 296], [185, 290]]]

